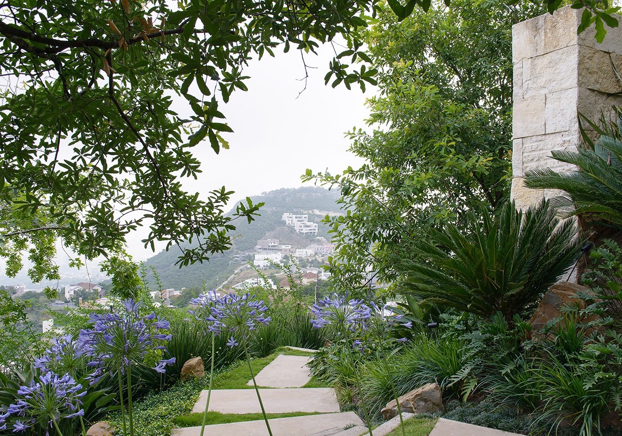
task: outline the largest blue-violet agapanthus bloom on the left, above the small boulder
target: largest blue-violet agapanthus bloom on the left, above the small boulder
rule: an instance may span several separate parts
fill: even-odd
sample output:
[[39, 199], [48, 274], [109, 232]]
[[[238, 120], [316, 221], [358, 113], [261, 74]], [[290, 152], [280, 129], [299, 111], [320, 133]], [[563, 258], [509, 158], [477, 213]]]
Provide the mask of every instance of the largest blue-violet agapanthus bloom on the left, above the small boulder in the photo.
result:
[[[157, 317], [156, 313], [139, 315], [140, 303], [127, 299], [123, 301], [125, 310], [120, 313], [106, 313], [99, 315], [91, 313], [93, 328], [81, 330], [78, 341], [83, 351], [89, 356], [89, 365], [94, 368], [88, 377], [91, 384], [115, 371], [125, 373], [133, 364], [144, 364], [152, 359], [152, 364], [158, 363], [152, 369], [159, 373], [165, 372], [165, 366], [175, 362], [175, 358], [156, 359], [161, 355], [156, 350], [164, 351], [165, 341], [171, 339], [167, 333], [170, 327], [168, 321]], [[112, 309], [112, 308], [111, 308]]]

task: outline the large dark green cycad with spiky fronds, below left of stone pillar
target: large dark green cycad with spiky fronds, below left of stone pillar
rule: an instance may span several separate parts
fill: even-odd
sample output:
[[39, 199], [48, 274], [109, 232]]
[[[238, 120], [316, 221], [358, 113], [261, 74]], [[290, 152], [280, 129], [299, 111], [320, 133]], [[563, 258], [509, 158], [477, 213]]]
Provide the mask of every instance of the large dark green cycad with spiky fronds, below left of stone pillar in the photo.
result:
[[560, 222], [548, 203], [521, 212], [506, 203], [483, 222], [471, 214], [468, 233], [453, 225], [417, 244], [422, 262], [407, 266], [403, 291], [425, 302], [511, 322], [537, 304], [581, 253], [572, 221]]

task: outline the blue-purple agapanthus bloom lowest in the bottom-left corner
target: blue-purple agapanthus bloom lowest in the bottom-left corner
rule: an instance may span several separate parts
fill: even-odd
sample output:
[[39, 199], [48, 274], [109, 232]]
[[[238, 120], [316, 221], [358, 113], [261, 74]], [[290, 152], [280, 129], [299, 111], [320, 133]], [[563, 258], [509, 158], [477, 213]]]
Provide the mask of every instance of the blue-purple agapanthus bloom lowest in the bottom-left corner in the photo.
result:
[[82, 416], [81, 397], [85, 394], [86, 389], [72, 376], [45, 373], [39, 376], [39, 381], [30, 381], [27, 386], [19, 388], [17, 395], [21, 399], [0, 415], [0, 430], [6, 430], [7, 419], [11, 415], [18, 418], [12, 424], [13, 432], [25, 432], [34, 425], [52, 428], [58, 419]]

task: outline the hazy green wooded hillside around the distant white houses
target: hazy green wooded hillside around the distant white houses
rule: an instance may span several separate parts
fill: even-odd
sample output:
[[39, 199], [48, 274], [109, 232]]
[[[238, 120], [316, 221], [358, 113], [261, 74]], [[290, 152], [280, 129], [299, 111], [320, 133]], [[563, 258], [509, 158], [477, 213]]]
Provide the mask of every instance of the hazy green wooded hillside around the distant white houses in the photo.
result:
[[236, 230], [231, 232], [234, 239], [230, 251], [213, 256], [210, 262], [197, 263], [182, 269], [175, 266], [179, 251], [173, 248], [170, 251], [161, 251], [146, 262], [148, 266], [156, 268], [164, 287], [175, 289], [200, 287], [203, 279], [209, 288], [215, 287], [244, 264], [244, 256], [252, 253], [258, 239], [279, 239], [281, 244], [291, 244], [295, 248], [304, 248], [312, 244], [315, 236], [305, 236], [285, 226], [284, 221], [281, 221], [281, 216], [285, 212], [306, 213], [309, 215], [309, 221], [318, 223], [318, 236], [327, 239], [330, 239], [328, 227], [320, 221], [327, 213], [340, 213], [336, 203], [339, 198], [338, 192], [324, 188], [281, 188], [251, 198], [254, 203], [264, 202], [266, 205], [261, 208], [261, 216], [252, 223], [234, 221]]

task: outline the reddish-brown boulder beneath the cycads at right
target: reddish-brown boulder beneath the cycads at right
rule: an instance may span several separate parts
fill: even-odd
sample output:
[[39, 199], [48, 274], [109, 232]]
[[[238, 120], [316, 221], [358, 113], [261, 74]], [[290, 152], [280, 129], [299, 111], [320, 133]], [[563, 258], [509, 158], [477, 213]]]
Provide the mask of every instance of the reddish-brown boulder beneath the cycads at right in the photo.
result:
[[540, 305], [529, 320], [534, 332], [544, 328], [550, 320], [562, 317], [562, 307], [570, 304], [578, 304], [579, 308], [585, 308], [585, 302], [577, 297], [578, 292], [588, 292], [583, 285], [570, 282], [560, 282], [552, 285], [542, 297]]

